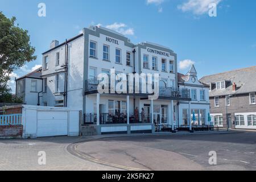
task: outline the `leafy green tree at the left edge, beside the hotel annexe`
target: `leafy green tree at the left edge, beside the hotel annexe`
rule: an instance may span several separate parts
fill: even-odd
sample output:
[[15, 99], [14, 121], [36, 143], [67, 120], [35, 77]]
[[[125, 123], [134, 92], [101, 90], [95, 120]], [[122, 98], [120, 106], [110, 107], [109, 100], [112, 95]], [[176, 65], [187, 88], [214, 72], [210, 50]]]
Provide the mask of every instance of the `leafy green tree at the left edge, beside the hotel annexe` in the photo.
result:
[[0, 100], [10, 93], [7, 83], [11, 73], [36, 59], [28, 31], [15, 25], [15, 21], [15, 17], [6, 18], [0, 11]]

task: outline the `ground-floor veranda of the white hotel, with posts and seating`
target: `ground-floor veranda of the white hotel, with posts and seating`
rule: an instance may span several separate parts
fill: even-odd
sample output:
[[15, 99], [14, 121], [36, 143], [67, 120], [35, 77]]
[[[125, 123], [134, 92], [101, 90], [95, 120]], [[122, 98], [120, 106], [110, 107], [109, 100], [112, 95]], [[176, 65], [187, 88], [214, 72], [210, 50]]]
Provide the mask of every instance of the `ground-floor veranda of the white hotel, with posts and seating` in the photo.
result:
[[211, 130], [208, 112], [209, 105], [191, 101], [96, 93], [85, 98], [83, 124], [98, 126], [101, 133]]

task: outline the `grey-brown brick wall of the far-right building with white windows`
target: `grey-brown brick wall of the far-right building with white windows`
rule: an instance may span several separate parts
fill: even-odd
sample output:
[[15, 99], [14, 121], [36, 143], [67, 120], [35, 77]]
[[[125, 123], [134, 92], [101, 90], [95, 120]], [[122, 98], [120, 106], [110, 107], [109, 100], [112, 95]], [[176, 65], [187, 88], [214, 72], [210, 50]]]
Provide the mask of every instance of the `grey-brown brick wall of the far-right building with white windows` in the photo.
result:
[[[222, 113], [223, 127], [227, 127], [226, 123], [226, 97], [220, 97], [220, 107], [214, 106], [214, 97], [210, 97], [210, 113]], [[249, 94], [240, 94], [230, 97], [230, 106], [228, 106], [228, 114], [231, 114], [232, 129], [235, 128], [234, 113], [250, 113], [256, 112], [256, 105], [250, 105]]]

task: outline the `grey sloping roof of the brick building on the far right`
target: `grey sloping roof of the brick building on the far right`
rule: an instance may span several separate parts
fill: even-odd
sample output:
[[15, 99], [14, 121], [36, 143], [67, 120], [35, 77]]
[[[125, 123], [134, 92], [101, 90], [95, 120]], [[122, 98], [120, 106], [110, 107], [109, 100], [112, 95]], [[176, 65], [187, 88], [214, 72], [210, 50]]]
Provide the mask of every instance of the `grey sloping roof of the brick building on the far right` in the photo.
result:
[[[228, 84], [226, 85], [226, 89], [213, 89], [209, 92], [210, 97], [256, 92], [256, 66], [204, 76], [200, 81], [206, 84], [226, 81], [226, 84]], [[233, 91], [234, 83], [237, 85], [236, 91]]]

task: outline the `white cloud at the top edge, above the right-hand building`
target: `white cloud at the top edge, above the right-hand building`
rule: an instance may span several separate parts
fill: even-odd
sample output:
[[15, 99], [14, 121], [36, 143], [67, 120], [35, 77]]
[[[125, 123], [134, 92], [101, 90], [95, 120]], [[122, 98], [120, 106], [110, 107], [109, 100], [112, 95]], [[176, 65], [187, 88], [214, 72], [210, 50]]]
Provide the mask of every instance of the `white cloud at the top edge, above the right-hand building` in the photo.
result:
[[177, 8], [183, 12], [192, 11], [195, 15], [202, 15], [208, 13], [210, 3], [220, 3], [222, 0], [187, 0], [182, 5], [178, 5]]

